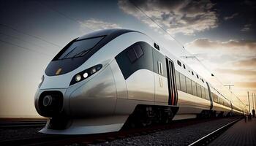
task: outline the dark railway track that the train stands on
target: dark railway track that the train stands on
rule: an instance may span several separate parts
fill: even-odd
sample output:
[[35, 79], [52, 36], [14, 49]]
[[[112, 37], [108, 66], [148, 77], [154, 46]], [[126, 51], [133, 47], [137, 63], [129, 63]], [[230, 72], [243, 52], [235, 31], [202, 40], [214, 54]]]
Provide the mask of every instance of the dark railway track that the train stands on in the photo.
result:
[[87, 134], [87, 135], [46, 135], [45, 137], [38, 137], [34, 139], [16, 139], [12, 141], [0, 142], [0, 145], [72, 145], [74, 143], [80, 145], [89, 145], [99, 142], [110, 142], [115, 139], [123, 139], [125, 137], [134, 137], [139, 135], [151, 134], [156, 131], [167, 130], [171, 128], [181, 128], [191, 126], [197, 123], [203, 123], [210, 120], [218, 120], [219, 118], [211, 119], [190, 119], [190, 120], [176, 120], [166, 125], [151, 126], [146, 128], [135, 128], [129, 130], [121, 130], [118, 132], [111, 132], [106, 134]]

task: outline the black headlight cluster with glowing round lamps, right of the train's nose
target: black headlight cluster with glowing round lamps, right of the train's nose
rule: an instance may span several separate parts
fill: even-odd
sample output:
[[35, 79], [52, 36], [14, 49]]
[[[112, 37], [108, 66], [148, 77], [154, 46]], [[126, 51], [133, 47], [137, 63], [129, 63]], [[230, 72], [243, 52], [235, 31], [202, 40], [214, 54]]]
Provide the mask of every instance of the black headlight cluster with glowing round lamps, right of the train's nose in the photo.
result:
[[99, 69], [101, 68], [102, 68], [102, 64], [98, 64], [96, 66], [93, 66], [89, 69], [84, 70], [83, 72], [79, 72], [78, 74], [75, 74], [75, 76], [72, 78], [69, 85], [73, 85], [77, 82], [85, 80], [86, 78], [90, 77], [92, 74], [95, 74], [95, 72], [98, 72]]

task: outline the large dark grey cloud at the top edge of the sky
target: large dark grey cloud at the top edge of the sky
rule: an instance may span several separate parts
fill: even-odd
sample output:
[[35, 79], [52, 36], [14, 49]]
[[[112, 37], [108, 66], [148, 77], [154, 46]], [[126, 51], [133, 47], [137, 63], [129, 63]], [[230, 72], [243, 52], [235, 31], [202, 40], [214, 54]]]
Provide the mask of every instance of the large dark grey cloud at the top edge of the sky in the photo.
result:
[[[137, 7], [153, 18], [170, 34], [186, 35], [205, 31], [218, 26], [217, 12], [212, 10], [211, 1], [132, 1]], [[146, 23], [152, 28], [158, 28], [143, 12], [140, 12], [127, 0], [118, 0], [118, 7], [129, 15]]]

